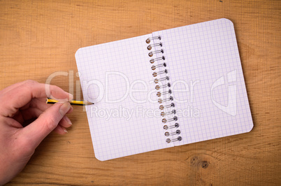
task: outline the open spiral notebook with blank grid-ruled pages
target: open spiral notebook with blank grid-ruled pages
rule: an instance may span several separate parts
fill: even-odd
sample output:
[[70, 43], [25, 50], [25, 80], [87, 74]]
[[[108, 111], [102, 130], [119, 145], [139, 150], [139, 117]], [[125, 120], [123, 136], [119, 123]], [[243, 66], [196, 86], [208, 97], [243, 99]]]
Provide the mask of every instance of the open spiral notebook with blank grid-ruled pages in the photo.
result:
[[253, 127], [227, 19], [80, 48], [75, 59], [101, 161]]

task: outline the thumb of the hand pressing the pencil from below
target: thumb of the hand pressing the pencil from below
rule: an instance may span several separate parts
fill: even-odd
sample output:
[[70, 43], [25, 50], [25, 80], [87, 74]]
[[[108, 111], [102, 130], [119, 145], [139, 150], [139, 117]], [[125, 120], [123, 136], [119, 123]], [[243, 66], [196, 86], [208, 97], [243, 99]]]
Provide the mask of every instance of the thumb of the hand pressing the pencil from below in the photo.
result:
[[22, 129], [22, 137], [27, 138], [29, 144], [36, 148], [57, 127], [70, 108], [69, 102], [58, 102], [50, 106], [34, 122]]

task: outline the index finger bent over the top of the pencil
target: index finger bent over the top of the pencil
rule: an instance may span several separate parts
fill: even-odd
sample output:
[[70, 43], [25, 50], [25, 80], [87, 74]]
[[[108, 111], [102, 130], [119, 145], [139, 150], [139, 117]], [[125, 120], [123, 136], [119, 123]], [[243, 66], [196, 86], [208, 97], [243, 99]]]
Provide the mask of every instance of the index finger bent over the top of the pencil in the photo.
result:
[[55, 85], [46, 85], [33, 80], [27, 80], [25, 83], [6, 92], [4, 99], [8, 101], [0, 108], [0, 114], [11, 117], [18, 108], [27, 105], [31, 99], [45, 97], [65, 101], [73, 99], [71, 94], [64, 92], [64, 90]]

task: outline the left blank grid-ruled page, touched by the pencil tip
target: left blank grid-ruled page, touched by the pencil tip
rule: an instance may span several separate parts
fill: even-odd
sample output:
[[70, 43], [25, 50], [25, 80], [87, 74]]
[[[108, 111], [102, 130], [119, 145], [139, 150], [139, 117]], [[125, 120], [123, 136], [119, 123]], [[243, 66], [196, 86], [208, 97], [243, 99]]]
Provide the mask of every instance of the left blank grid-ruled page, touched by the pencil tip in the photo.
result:
[[75, 54], [97, 159], [168, 148], [150, 69], [152, 34], [80, 48]]

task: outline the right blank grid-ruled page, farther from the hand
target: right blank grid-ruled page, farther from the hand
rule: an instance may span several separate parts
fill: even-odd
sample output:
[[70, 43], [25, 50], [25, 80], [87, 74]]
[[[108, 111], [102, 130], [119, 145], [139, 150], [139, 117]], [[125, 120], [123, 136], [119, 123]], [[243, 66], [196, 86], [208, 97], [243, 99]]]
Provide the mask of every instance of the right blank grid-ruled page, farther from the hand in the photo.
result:
[[[230, 20], [156, 31], [161, 36], [182, 141], [245, 133], [253, 127]], [[176, 137], [176, 136], [175, 136]]]

